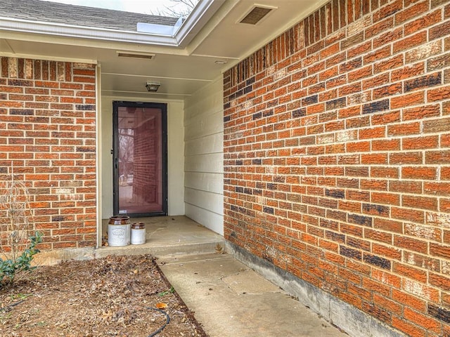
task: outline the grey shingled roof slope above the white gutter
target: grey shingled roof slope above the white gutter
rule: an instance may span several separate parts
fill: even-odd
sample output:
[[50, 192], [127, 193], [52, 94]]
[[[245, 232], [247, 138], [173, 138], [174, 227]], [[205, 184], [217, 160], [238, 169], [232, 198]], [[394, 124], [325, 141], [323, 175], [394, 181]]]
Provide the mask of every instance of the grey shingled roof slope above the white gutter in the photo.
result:
[[1, 0], [0, 17], [136, 32], [138, 22], [173, 26], [177, 18], [41, 0]]

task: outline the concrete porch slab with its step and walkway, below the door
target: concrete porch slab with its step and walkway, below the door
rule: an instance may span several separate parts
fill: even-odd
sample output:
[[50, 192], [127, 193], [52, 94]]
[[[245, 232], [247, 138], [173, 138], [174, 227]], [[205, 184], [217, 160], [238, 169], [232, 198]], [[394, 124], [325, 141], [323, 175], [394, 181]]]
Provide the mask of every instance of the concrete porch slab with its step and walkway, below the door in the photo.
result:
[[[136, 218], [147, 242], [102, 247], [96, 257], [151, 253], [210, 337], [345, 337], [285, 291], [229, 253], [224, 238], [185, 216]], [[108, 220], [105, 220], [106, 228]]]

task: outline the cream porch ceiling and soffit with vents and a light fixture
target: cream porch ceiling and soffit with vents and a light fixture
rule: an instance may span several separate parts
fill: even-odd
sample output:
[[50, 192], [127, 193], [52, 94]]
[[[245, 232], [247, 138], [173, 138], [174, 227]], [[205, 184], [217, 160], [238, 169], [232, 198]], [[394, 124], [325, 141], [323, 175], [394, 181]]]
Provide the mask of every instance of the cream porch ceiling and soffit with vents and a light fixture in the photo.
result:
[[[97, 62], [103, 95], [182, 100], [326, 2], [226, 0], [214, 8], [201, 29], [191, 31], [185, 46], [49, 36], [0, 27], [0, 55]], [[239, 23], [256, 4], [273, 10], [257, 25]], [[117, 51], [155, 56], [151, 60], [121, 58]], [[157, 93], [146, 91], [147, 81], [160, 82]]]

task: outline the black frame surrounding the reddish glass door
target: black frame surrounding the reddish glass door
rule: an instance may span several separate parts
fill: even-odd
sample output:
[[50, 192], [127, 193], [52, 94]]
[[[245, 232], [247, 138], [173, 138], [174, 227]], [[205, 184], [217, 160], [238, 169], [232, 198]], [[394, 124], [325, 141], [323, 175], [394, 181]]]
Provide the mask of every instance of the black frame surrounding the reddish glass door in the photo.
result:
[[[162, 211], [127, 214], [133, 218], [143, 216], [167, 216], [168, 214], [168, 169], [167, 169], [167, 103], [113, 101], [113, 213], [119, 215], [119, 107], [143, 107], [161, 110], [162, 142]], [[123, 215], [123, 214], [122, 214]]]

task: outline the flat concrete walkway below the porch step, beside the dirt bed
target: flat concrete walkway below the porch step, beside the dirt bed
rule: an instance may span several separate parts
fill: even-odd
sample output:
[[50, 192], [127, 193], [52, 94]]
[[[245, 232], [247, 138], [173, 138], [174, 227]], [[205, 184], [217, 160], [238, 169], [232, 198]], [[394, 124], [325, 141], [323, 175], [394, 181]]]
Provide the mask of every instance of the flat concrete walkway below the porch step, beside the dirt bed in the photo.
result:
[[229, 254], [161, 256], [174, 289], [210, 337], [345, 337]]

